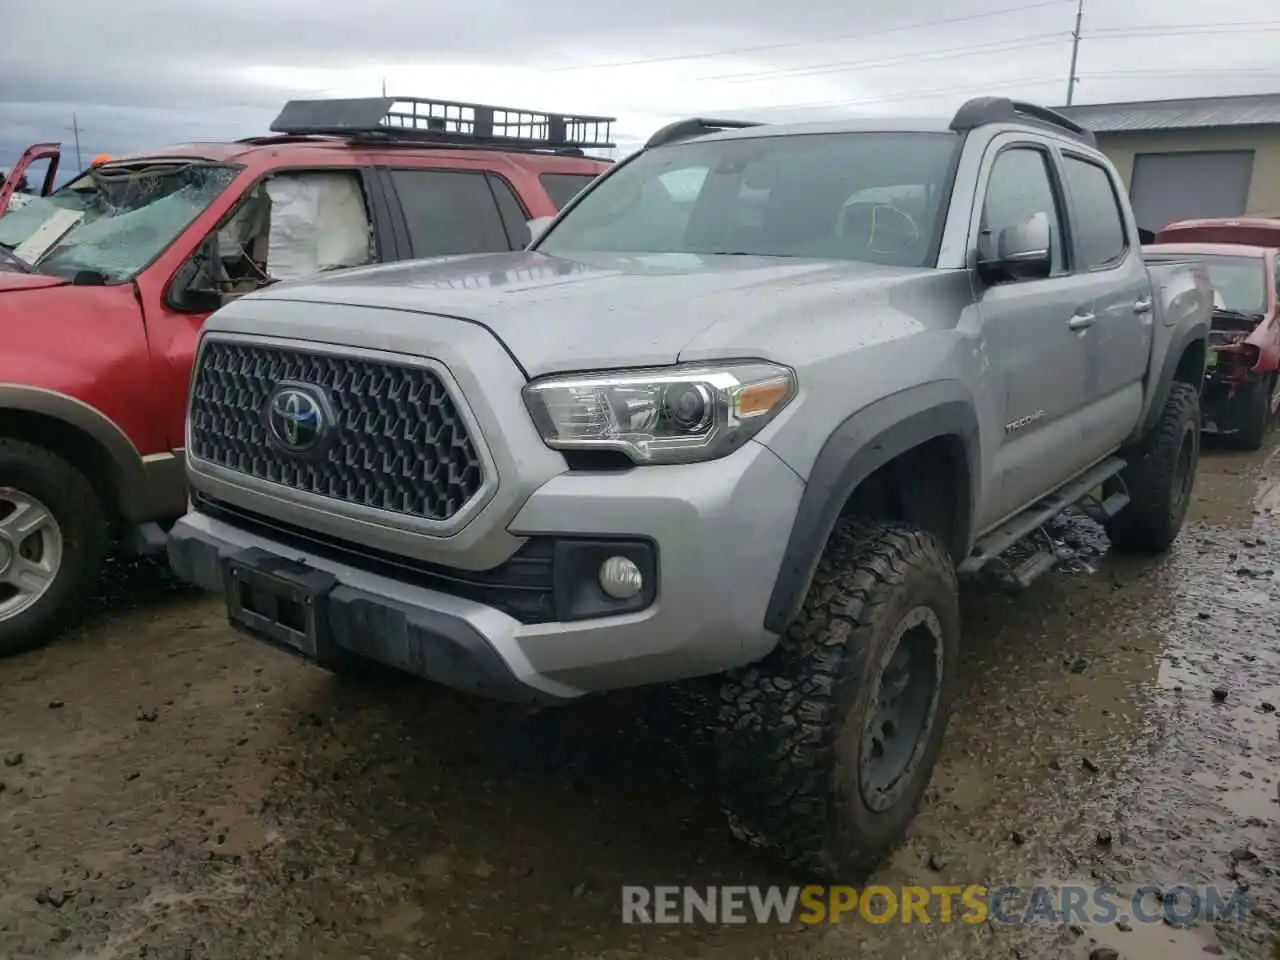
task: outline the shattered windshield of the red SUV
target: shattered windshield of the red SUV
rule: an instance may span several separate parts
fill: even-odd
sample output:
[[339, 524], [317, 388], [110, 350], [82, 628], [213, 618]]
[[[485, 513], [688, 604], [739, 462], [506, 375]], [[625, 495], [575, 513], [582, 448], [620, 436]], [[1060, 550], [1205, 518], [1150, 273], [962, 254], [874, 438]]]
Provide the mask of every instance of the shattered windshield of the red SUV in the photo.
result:
[[[38, 273], [74, 276], [90, 271], [109, 283], [129, 280], [160, 256], [237, 173], [237, 166], [189, 160], [93, 170], [0, 218], [0, 247], [28, 253], [28, 265]], [[74, 225], [61, 232], [72, 221]], [[46, 234], [52, 230], [49, 246], [37, 236], [41, 229]]]

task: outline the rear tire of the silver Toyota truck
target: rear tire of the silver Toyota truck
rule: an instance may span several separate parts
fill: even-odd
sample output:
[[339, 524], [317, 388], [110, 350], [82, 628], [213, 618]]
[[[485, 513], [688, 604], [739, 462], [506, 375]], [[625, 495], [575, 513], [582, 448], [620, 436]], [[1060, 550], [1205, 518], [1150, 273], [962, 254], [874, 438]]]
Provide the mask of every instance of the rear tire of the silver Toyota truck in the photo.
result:
[[1199, 392], [1175, 383], [1160, 420], [1126, 454], [1120, 471], [1129, 504], [1106, 522], [1111, 543], [1133, 553], [1164, 553], [1187, 518], [1199, 462]]

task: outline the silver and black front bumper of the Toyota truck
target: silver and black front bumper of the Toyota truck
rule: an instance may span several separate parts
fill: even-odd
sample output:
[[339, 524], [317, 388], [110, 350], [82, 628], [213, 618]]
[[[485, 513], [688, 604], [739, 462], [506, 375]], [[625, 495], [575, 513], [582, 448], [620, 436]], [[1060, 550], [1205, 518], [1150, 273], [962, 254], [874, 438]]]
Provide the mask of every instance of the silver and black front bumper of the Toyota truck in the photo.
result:
[[173, 529], [174, 571], [229, 595], [227, 563], [244, 550], [328, 575], [324, 634], [333, 645], [495, 699], [547, 701], [721, 672], [777, 641], [764, 608], [803, 483], [749, 443], [709, 463], [566, 472], [520, 508], [516, 538], [644, 539], [655, 547], [657, 595], [645, 609], [525, 623], [443, 589], [358, 562], [282, 544], [191, 512]]

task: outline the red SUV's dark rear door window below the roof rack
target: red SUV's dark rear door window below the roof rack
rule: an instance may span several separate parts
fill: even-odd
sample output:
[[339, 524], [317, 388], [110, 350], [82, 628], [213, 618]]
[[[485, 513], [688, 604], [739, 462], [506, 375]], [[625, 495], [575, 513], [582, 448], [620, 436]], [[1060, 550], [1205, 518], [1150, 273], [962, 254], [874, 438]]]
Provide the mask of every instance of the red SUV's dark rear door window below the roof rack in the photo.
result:
[[390, 170], [415, 257], [511, 250], [484, 172]]

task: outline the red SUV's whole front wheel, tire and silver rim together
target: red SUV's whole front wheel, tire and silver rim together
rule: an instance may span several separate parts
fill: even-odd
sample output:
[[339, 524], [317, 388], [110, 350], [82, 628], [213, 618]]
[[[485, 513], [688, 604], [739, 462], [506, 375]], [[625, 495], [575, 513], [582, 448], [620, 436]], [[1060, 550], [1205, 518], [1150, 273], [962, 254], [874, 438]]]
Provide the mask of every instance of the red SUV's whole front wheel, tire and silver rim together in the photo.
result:
[[106, 520], [83, 474], [44, 447], [0, 439], [0, 657], [69, 623], [105, 552]]

